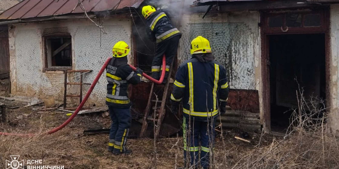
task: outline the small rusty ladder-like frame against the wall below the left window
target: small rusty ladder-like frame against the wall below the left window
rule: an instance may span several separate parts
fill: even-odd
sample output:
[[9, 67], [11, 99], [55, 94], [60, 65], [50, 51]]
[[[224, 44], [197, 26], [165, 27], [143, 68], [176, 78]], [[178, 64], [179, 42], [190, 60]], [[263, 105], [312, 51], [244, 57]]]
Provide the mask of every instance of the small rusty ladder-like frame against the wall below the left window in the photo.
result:
[[[82, 102], [82, 85], [91, 85], [91, 83], [83, 83], [82, 82], [82, 75], [91, 72], [92, 70], [65, 70], [64, 74], [65, 74], [65, 81], [64, 81], [64, 87], [65, 87], [65, 91], [64, 91], [64, 104], [63, 104], [63, 108], [64, 109], [75, 109], [73, 107], [66, 107], [66, 98], [67, 97], [79, 97], [80, 101], [79, 104]], [[80, 73], [80, 82], [67, 82], [67, 73]], [[80, 85], [80, 94], [79, 95], [67, 95], [67, 85]]]

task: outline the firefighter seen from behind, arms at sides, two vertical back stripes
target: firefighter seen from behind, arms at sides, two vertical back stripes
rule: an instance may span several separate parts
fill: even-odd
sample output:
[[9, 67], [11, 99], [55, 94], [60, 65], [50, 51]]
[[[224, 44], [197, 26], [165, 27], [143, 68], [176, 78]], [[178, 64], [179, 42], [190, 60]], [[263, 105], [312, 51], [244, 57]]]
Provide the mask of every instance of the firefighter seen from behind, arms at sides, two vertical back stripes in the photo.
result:
[[214, 146], [216, 118], [219, 112], [221, 115], [226, 112], [229, 88], [226, 70], [214, 61], [207, 39], [195, 38], [191, 43], [191, 54], [192, 58], [181, 64], [176, 73], [171, 95], [172, 111], [177, 112], [182, 101], [186, 167], [188, 163], [197, 167], [200, 162], [206, 169]]

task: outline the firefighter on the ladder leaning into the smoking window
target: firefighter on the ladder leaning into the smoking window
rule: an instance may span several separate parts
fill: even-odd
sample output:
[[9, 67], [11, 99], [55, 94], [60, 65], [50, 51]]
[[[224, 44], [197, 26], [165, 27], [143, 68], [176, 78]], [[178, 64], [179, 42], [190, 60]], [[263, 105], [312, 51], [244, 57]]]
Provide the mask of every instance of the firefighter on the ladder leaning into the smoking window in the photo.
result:
[[146, 33], [151, 41], [156, 41], [157, 48], [152, 63], [152, 77], [156, 80], [160, 79], [162, 71], [162, 57], [166, 56], [166, 73], [164, 81], [167, 79], [169, 67], [176, 56], [179, 40], [181, 38], [180, 31], [172, 25], [167, 15], [162, 9], [156, 10], [153, 6], [144, 6], [142, 15], [147, 20]]

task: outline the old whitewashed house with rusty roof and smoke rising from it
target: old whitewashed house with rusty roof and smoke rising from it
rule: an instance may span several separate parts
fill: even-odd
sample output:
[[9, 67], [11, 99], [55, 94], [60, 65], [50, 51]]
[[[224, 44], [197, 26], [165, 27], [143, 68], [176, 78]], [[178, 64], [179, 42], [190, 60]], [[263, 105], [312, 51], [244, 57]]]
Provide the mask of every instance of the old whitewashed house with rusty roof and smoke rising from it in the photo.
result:
[[[325, 100], [331, 126], [339, 130], [335, 2], [84, 0], [82, 8], [77, 0], [24, 0], [0, 15], [0, 24], [8, 24], [11, 92], [63, 100], [64, 71], [93, 70], [83, 75], [83, 82], [91, 83], [120, 40], [133, 47], [129, 63], [150, 71], [155, 46], [144, 36], [139, 6], [167, 5], [183, 34], [175, 68], [190, 58], [189, 45], [197, 35], [210, 40], [216, 60], [227, 68], [228, 104], [247, 112], [228, 114], [229, 127], [285, 128], [290, 114], [284, 112], [297, 106], [299, 83], [305, 98]], [[107, 34], [89, 19], [102, 23]], [[133, 87], [134, 108], [144, 110], [150, 88], [147, 82]], [[89, 104], [104, 104], [105, 90], [102, 77]], [[78, 92], [77, 86], [67, 88]]]

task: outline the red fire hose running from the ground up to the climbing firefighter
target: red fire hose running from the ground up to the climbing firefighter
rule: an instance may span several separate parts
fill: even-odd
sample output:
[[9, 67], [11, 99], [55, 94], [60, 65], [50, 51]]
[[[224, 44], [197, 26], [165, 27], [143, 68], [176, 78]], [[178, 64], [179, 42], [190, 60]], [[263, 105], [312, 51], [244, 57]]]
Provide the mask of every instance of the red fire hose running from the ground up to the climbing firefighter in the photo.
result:
[[[88, 92], [86, 93], [86, 96], [84, 97], [84, 99], [82, 99], [82, 102], [80, 103], [80, 105], [78, 106], [77, 110], [72, 114], [71, 117], [69, 117], [63, 124], [61, 124], [60, 126], [54, 128], [53, 130], [51, 131], [48, 131], [47, 134], [53, 134], [57, 131], [59, 131], [60, 129], [64, 128], [69, 122], [71, 122], [75, 116], [77, 116], [77, 114], [79, 113], [79, 111], [81, 110], [82, 106], [86, 103], [88, 97], [91, 95], [95, 85], [97, 84], [99, 78], [101, 77], [102, 73], [105, 71], [108, 63], [111, 61], [112, 57], [108, 58], [107, 61], [104, 63], [104, 65], [102, 65], [97, 77], [94, 79], [91, 87], [89, 88]], [[133, 70], [136, 70], [135, 67], [129, 65]], [[147, 79], [151, 80], [152, 82], [154, 83], [157, 83], [157, 84], [161, 84], [162, 81], [164, 80], [164, 77], [165, 77], [165, 71], [166, 71], [166, 58], [165, 58], [165, 55], [163, 56], [162, 58], [162, 72], [161, 72], [161, 78], [160, 80], [156, 80], [156, 79], [153, 79], [152, 77], [148, 76], [147, 74], [145, 73], [142, 73], [142, 75], [144, 77], [146, 77]], [[7, 133], [7, 132], [0, 132], [0, 135], [4, 135], [4, 136], [34, 136], [34, 134], [13, 134], [13, 133]]]

